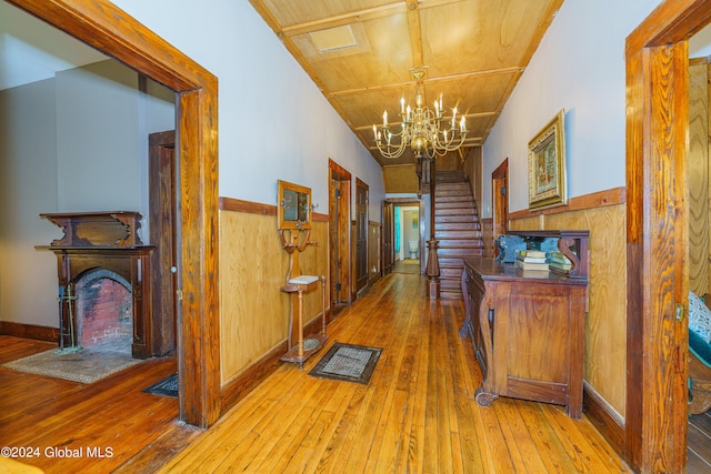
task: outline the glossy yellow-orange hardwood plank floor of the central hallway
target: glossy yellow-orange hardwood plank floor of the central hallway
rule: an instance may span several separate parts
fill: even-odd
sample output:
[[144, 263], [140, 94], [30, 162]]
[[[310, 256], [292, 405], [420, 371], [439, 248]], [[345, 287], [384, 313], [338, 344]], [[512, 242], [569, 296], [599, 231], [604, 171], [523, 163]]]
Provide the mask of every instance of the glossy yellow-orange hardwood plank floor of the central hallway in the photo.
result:
[[391, 274], [329, 326], [333, 341], [382, 347], [369, 385], [284, 364], [164, 472], [628, 472], [583, 417], [472, 395], [480, 372], [458, 335], [461, 301], [430, 303], [419, 275]]

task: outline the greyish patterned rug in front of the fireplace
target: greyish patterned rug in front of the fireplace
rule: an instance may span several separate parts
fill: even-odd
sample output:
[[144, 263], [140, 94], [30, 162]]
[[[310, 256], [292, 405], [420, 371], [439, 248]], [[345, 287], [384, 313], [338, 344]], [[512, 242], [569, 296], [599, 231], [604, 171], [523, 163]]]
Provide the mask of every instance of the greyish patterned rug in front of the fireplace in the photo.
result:
[[14, 371], [48, 375], [79, 383], [93, 383], [143, 362], [131, 356], [130, 345], [97, 344], [76, 351], [52, 349], [2, 364]]

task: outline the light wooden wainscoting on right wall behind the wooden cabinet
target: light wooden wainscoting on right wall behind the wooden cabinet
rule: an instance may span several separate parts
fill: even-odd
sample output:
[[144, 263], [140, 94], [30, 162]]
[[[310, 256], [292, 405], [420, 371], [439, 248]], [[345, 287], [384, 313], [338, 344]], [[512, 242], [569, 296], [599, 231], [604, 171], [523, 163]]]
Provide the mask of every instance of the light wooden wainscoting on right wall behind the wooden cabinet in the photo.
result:
[[510, 214], [511, 230], [590, 231], [590, 295], [585, 320], [585, 404], [610, 440], [622, 436], [627, 401], [627, 254], [624, 190], [569, 200], [564, 206]]

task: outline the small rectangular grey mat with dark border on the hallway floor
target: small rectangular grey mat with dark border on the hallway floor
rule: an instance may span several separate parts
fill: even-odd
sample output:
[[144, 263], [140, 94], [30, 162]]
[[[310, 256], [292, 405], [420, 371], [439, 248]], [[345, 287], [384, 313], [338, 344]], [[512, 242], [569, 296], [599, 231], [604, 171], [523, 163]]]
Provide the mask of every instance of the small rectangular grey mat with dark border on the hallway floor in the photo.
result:
[[378, 347], [336, 342], [309, 372], [309, 375], [368, 385], [381, 351]]

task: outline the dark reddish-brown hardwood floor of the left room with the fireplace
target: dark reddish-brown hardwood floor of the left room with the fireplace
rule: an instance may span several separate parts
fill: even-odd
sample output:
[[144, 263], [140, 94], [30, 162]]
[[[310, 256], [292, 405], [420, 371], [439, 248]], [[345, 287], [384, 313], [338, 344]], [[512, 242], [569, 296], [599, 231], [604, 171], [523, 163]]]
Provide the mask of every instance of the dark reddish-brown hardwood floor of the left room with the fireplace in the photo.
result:
[[[0, 364], [52, 347], [0, 336]], [[0, 444], [48, 473], [112, 472], [173, 425], [197, 434], [176, 423], [176, 399], [141, 392], [174, 371], [174, 357], [153, 359], [86, 385], [0, 367]]]

